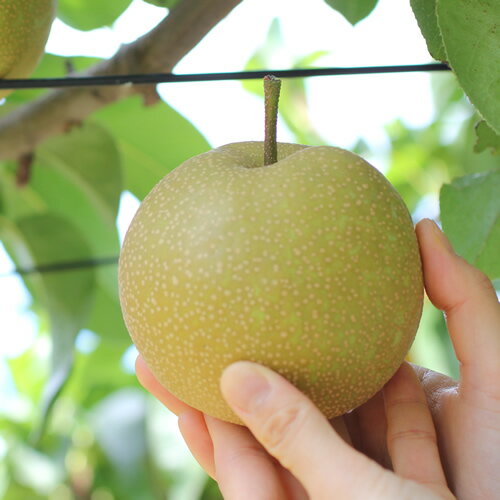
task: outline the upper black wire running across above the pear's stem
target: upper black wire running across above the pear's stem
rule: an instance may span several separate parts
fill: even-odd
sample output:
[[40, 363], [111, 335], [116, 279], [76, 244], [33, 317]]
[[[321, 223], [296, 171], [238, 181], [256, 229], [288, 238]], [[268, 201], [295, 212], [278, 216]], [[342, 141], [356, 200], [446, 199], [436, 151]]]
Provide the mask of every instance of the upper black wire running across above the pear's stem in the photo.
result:
[[152, 84], [176, 82], [208, 82], [222, 80], [251, 80], [274, 75], [279, 78], [305, 78], [314, 76], [367, 75], [379, 73], [408, 73], [417, 71], [447, 71], [443, 63], [409, 64], [400, 66], [364, 66], [346, 68], [309, 68], [286, 70], [234, 71], [230, 73], [148, 73], [138, 75], [67, 76], [65, 78], [31, 78], [1, 80], [0, 89], [48, 89], [62, 87], [91, 87], [125, 84]]

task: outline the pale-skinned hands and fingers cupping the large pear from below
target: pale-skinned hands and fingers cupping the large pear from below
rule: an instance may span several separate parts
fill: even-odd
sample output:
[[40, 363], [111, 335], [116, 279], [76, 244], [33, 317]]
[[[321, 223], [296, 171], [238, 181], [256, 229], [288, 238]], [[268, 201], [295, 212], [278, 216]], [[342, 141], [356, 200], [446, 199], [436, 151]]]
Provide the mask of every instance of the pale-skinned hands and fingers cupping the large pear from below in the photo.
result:
[[[433, 222], [421, 221], [416, 233], [459, 381], [404, 363], [370, 401], [328, 422], [282, 377], [239, 362], [223, 373], [221, 389], [245, 428], [179, 401], [138, 357], [139, 381], [179, 415], [187, 445], [224, 498], [423, 500], [453, 498], [451, 489], [460, 500], [500, 499], [500, 305], [487, 277], [454, 254]], [[251, 392], [259, 374], [270, 393], [252, 404], [243, 388]]]

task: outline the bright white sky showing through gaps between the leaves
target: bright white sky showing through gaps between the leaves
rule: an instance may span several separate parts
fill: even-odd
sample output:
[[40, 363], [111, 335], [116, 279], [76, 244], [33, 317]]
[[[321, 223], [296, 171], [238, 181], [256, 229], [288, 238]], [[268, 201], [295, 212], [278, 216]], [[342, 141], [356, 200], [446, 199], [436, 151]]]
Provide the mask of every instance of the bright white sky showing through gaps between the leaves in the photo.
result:
[[[318, 50], [325, 51], [315, 63], [318, 66], [375, 66], [431, 61], [409, 2], [380, 0], [374, 13], [354, 28], [325, 3], [310, 1], [307, 2], [307, 10], [304, 10], [305, 3], [303, 0], [243, 2], [174, 71], [203, 73], [244, 69], [251, 55], [264, 43], [271, 22], [276, 17], [280, 19], [284, 44], [274, 51], [270, 69], [287, 69], [299, 57]], [[110, 57], [120, 44], [130, 43], [148, 32], [164, 15], [164, 9], [135, 0], [108, 29], [83, 33], [56, 21], [47, 51], [63, 56]], [[309, 78], [306, 81], [309, 115], [316, 131], [327, 143], [353, 148], [361, 139], [369, 151], [365, 156], [377, 168], [386, 171], [391, 149], [386, 126], [395, 120], [401, 120], [409, 128], [424, 128], [431, 124], [436, 115], [431, 83], [439, 78], [442, 76], [428, 73]], [[229, 142], [262, 139], [262, 100], [247, 92], [241, 82], [163, 84], [159, 86], [159, 91], [214, 147]], [[467, 110], [460, 108], [446, 124], [445, 142], [456, 136], [466, 114]], [[281, 141], [293, 139], [282, 123], [278, 138]], [[138, 201], [132, 195], [123, 195], [117, 220], [122, 238], [137, 206]], [[424, 216], [436, 217], [437, 214], [437, 197], [431, 194], [413, 215], [415, 219], [420, 219]], [[46, 336], [40, 338], [35, 316], [28, 311], [30, 298], [21, 279], [9, 274], [12, 268], [13, 264], [0, 244], [0, 411], [8, 407], [9, 412], [17, 411], [22, 418], [28, 411], [27, 403], [19, 396], [6, 361], [33, 346], [39, 350], [40, 357], [46, 357], [50, 346]], [[92, 350], [95, 341], [92, 332], [84, 331], [78, 338], [77, 347], [86, 352]], [[420, 341], [420, 345], [422, 342], [430, 342], [428, 345], [432, 346], [434, 341], [426, 338]], [[446, 361], [439, 351], [436, 353], [428, 358], [428, 366], [446, 371]], [[134, 357], [134, 351], [130, 349], [124, 356], [125, 370], [132, 371]], [[134, 408], [131, 407], [130, 411], [133, 412]], [[120, 415], [116, 417], [120, 419]], [[178, 474], [191, 478], [179, 483], [172, 498], [191, 500], [195, 498], [193, 488], [199, 488], [196, 478], [198, 482], [202, 478], [199, 468], [179, 438], [176, 419], [158, 407], [155, 421], [160, 460], [165, 467], [176, 468]], [[103, 434], [106, 435], [105, 430]], [[0, 459], [6, 450], [7, 444], [0, 436]], [[37, 464], [37, 472], [30, 476], [30, 481], [40, 491], [49, 491], [54, 484], [58, 484], [57, 470], [38, 458], [36, 462], [30, 456], [29, 460], [35, 460]], [[0, 471], [0, 497], [1, 484]], [[63, 486], [57, 491], [60, 496], [50, 498], [69, 498], [65, 496]], [[103, 492], [101, 497], [93, 500], [114, 498], [109, 495]]]

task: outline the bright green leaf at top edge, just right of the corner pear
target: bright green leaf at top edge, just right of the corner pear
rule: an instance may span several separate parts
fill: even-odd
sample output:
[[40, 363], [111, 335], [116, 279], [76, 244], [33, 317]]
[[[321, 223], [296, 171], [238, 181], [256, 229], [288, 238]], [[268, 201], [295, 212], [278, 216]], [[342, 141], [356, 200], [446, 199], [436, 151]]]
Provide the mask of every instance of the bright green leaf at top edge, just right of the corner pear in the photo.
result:
[[57, 17], [78, 30], [111, 26], [132, 0], [59, 0]]

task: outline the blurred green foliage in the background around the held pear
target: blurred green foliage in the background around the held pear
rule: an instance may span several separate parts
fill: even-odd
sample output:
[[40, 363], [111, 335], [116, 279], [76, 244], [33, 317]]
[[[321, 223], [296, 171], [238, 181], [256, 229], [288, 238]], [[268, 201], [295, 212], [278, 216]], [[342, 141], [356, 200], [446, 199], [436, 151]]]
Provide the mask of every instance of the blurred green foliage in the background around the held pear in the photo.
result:
[[[368, 13], [375, 3], [359, 1], [357, 8]], [[90, 29], [109, 24], [128, 4], [124, 0], [101, 9], [95, 2], [62, 0], [61, 15], [77, 28]], [[359, 12], [344, 14], [356, 21]], [[270, 56], [282, 43], [275, 21], [247, 69], [269, 67]], [[322, 54], [298, 57], [289, 66], [311, 66]], [[95, 62], [74, 58], [72, 66], [84, 69]], [[46, 56], [36, 76], [60, 76], [66, 71], [64, 58]], [[261, 95], [257, 82], [245, 82], [243, 87]], [[436, 111], [429, 126], [409, 128], [398, 120], [386, 127], [391, 144], [386, 174], [416, 219], [438, 216], [443, 184], [454, 186], [450, 183], [457, 177], [499, 168], [498, 156], [487, 147], [481, 153], [473, 150], [478, 117], [454, 76], [436, 74], [433, 89]], [[0, 116], [40, 93], [13, 94], [0, 107]], [[285, 81], [282, 94], [281, 116], [295, 140], [324, 143], [308, 114], [304, 80]], [[209, 144], [193, 125], [166, 103], [143, 107], [138, 99], [129, 99], [113, 104], [81, 127], [40, 146], [33, 176], [23, 190], [15, 186], [17, 166], [0, 163], [2, 242], [18, 266], [50, 264], [68, 258], [70, 250], [72, 258], [116, 255], [120, 194], [127, 190], [142, 199], [169, 170], [207, 149]], [[363, 142], [355, 149], [363, 152]], [[494, 175], [497, 179], [498, 174]], [[460, 202], [451, 199], [448, 213], [456, 212]], [[463, 214], [465, 220], [468, 216]], [[86, 294], [90, 282], [93, 286]], [[176, 418], [147, 395], [133, 375], [133, 353], [116, 283], [114, 265], [80, 273], [72, 284], [54, 275], [24, 281], [33, 299], [38, 334], [5, 367], [8, 387], [0, 404], [1, 498], [221, 498], [216, 483], [207, 478], [180, 438]], [[57, 346], [52, 358], [51, 345]], [[428, 301], [410, 355], [416, 363], [458, 375], [443, 315]]]

